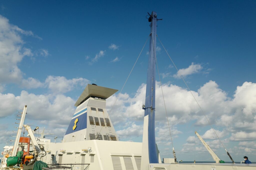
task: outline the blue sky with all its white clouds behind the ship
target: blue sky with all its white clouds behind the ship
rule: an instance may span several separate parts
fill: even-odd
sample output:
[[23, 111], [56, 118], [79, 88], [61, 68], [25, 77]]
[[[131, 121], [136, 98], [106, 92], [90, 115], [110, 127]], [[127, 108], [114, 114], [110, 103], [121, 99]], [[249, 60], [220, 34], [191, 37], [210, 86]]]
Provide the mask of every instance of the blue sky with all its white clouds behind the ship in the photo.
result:
[[[0, 146], [25, 104], [32, 114], [26, 121], [61, 138], [87, 83], [120, 90], [150, 33], [145, 16], [154, 10], [163, 18], [157, 35], [234, 160], [255, 158], [255, 9], [254, 1], [0, 2], [0, 119], [8, 127]], [[121, 140], [142, 141], [148, 45], [110, 114]], [[210, 158], [194, 140], [196, 130], [229, 161], [159, 42], [157, 47], [178, 159], [194, 160], [195, 150], [198, 160]], [[157, 99], [162, 107], [160, 94]], [[157, 141], [165, 141], [165, 112], [156, 114]], [[172, 157], [168, 140], [159, 142], [162, 157]]]

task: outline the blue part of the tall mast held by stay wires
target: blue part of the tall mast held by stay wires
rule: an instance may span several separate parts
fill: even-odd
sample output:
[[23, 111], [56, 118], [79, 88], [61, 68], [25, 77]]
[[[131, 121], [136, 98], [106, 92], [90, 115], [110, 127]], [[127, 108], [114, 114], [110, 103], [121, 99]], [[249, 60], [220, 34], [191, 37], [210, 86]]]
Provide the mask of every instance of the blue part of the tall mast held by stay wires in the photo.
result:
[[[155, 140], [155, 56], [156, 56], [156, 12], [152, 11], [149, 18], [151, 20], [151, 36], [148, 56], [148, 68], [147, 68], [147, 88], [146, 88], [146, 100], [145, 100], [145, 113], [144, 117], [148, 115], [148, 159], [149, 163], [158, 162], [158, 152], [156, 151]], [[145, 120], [145, 119], [144, 119]], [[146, 123], [144, 121], [144, 123]], [[146, 129], [143, 129], [146, 130]], [[143, 134], [144, 135], [144, 134]]]

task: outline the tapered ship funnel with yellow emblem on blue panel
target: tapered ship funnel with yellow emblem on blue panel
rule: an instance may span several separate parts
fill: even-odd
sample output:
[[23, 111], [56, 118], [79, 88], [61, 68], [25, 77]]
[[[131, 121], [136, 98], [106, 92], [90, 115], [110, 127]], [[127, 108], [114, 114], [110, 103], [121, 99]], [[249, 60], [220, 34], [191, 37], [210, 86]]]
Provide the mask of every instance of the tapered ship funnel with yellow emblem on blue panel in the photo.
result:
[[106, 111], [106, 99], [116, 91], [88, 84], [75, 103], [77, 109], [62, 142], [93, 139], [119, 141]]

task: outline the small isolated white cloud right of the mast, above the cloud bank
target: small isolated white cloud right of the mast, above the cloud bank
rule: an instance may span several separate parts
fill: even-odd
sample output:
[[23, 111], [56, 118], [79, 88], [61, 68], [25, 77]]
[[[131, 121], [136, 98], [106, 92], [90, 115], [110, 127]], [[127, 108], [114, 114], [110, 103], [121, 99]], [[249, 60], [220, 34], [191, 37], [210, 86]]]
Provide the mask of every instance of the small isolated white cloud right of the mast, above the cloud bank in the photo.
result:
[[[200, 70], [202, 70], [201, 64], [194, 64], [191, 63], [191, 65], [188, 68], [185, 69], [179, 69], [179, 71], [173, 75], [173, 77], [180, 79], [181, 76], [186, 77], [191, 74], [198, 73]], [[180, 76], [181, 75], [181, 76]]]

